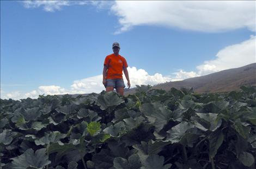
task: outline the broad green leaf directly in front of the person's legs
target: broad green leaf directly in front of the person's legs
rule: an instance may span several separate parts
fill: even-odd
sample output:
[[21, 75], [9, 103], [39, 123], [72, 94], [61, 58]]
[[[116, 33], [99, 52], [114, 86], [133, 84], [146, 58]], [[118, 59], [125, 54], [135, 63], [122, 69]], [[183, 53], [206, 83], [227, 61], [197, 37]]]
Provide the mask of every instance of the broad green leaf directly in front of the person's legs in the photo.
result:
[[117, 106], [123, 102], [124, 100], [121, 99], [117, 93], [111, 91], [100, 95], [96, 101], [96, 104], [99, 105], [102, 110], [106, 110], [108, 107]]

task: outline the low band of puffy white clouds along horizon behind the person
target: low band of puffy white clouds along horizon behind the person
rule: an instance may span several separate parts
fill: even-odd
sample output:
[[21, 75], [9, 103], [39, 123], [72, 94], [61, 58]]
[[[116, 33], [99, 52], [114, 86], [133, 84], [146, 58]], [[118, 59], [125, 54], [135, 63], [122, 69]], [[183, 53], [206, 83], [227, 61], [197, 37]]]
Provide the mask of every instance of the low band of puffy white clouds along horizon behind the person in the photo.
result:
[[[136, 87], [136, 85], [156, 85], [157, 83], [164, 83], [168, 81], [175, 81], [177, 79], [163, 76], [160, 73], [154, 75], [149, 75], [148, 72], [144, 69], [137, 69], [136, 67], [128, 67], [131, 87]], [[184, 72], [182, 72], [184, 73]], [[123, 75], [124, 76], [124, 75]], [[183, 76], [185, 77], [185, 76]], [[180, 76], [179, 76], [180, 78]], [[124, 82], [127, 87], [127, 81], [124, 76]], [[93, 77], [84, 78], [81, 80], [75, 80], [70, 89], [65, 89], [60, 86], [51, 85], [51, 86], [39, 86], [38, 89], [32, 90], [25, 94], [21, 92], [11, 92], [7, 93], [4, 96], [1, 95], [2, 99], [25, 99], [32, 98], [37, 99], [39, 95], [58, 95], [58, 94], [84, 94], [84, 93], [100, 93], [102, 90], [105, 90], [105, 87], [102, 84], [102, 75], [97, 75]]]

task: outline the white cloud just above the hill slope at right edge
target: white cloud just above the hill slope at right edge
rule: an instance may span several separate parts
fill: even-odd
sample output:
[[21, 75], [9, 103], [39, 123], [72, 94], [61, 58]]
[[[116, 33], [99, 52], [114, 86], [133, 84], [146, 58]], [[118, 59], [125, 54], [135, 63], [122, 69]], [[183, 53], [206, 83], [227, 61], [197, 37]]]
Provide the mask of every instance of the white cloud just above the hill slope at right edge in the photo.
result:
[[255, 63], [255, 40], [255, 36], [251, 36], [249, 40], [233, 44], [218, 51], [216, 59], [205, 61], [203, 64], [197, 66], [198, 74], [206, 75], [225, 69], [237, 68]]

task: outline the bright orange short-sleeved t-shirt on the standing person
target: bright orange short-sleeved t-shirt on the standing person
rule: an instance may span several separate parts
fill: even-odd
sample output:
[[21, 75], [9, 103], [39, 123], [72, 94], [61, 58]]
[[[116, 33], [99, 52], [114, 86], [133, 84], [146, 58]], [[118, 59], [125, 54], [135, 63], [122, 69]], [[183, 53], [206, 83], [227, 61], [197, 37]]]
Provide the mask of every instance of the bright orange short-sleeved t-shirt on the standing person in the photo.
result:
[[123, 79], [123, 68], [127, 68], [127, 62], [121, 55], [108, 55], [105, 58], [104, 65], [107, 66], [106, 79]]

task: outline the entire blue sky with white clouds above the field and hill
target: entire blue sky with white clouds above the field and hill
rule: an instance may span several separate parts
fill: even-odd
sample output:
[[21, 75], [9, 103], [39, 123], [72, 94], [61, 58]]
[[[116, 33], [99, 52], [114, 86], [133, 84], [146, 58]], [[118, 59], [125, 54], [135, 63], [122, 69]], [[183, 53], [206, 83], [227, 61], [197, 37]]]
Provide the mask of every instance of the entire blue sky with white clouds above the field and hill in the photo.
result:
[[253, 63], [255, 2], [241, 3], [1, 1], [1, 98], [100, 92], [113, 42], [132, 87]]

